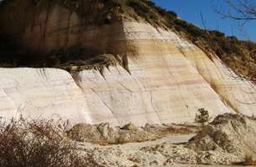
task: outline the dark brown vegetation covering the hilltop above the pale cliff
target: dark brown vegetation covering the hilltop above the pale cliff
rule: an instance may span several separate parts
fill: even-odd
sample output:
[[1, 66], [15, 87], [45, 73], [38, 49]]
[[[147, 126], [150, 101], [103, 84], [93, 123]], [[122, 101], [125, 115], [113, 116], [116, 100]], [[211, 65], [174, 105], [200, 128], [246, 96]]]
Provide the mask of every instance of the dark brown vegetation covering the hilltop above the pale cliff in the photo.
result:
[[[8, 6], [10, 3], [18, 5]], [[16, 15], [15, 13], [10, 13], [8, 18], [0, 18], [0, 25], [6, 23], [6, 20], [8, 19], [15, 19], [15, 22], [13, 23], [18, 23], [19, 26], [21, 25], [20, 28], [10, 25], [12, 22], [7, 22], [8, 28], [13, 28], [13, 33], [15, 34], [23, 33], [25, 26], [23, 26], [23, 24], [33, 23], [29, 22], [29, 19], [34, 20], [40, 10], [51, 8], [55, 6], [55, 4], [69, 8], [71, 12], [78, 13], [82, 18], [81, 23], [83, 25], [101, 26], [103, 24], [110, 24], [123, 19], [133, 18], [138, 21], [144, 20], [154, 27], [174, 29], [177, 33], [180, 33], [181, 36], [187, 38], [191, 43], [196, 44], [197, 47], [209, 54], [209, 56], [212, 53], [217, 54], [228, 67], [232, 68], [234, 72], [241, 74], [242, 78], [256, 79], [255, 43], [252, 41], [241, 41], [235, 37], [226, 37], [224, 33], [218, 31], [198, 28], [195, 25], [178, 18], [175, 12], [159, 8], [153, 2], [148, 0], [6, 0], [1, 4], [0, 11], [22, 11], [27, 6], [30, 8], [26, 8], [28, 11], [25, 13], [18, 13], [18, 15], [17, 13]], [[1, 27], [3, 28], [4, 26]], [[3, 37], [1, 34], [0, 37], [4, 39], [2, 40], [4, 43], [0, 43], [0, 62], [2, 67], [30, 67], [32, 64], [39, 64], [39, 66], [45, 64], [46, 67], [53, 67], [45, 62], [45, 57], [43, 62], [35, 58], [34, 54], [38, 53], [26, 53], [26, 55], [20, 55], [20, 48], [18, 45], [19, 38]], [[15, 40], [13, 40], [13, 38]], [[9, 43], [6, 43], [6, 41]], [[80, 49], [77, 50], [79, 51]], [[61, 52], [66, 53], [68, 51], [65, 49]], [[76, 55], [79, 55], [80, 58], [84, 60], [83, 53], [78, 53]], [[99, 53], [91, 53], [91, 50], [90, 53], [86, 52], [87, 57], [95, 56], [97, 54]], [[53, 55], [54, 54], [49, 54], [47, 56], [49, 60], [48, 62], [51, 62]], [[57, 58], [58, 61], [59, 59], [61, 59], [61, 61], [69, 61], [62, 54]], [[73, 60], [76, 60], [76, 58], [73, 57]], [[56, 65], [54, 65], [54, 67], [56, 67]]]

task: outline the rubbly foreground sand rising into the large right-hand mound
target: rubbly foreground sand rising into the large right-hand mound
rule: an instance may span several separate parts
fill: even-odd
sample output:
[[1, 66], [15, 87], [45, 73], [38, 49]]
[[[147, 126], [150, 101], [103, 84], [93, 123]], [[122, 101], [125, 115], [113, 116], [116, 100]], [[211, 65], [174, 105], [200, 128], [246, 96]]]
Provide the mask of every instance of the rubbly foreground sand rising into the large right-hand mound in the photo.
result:
[[81, 148], [93, 154], [98, 164], [106, 166], [245, 164], [247, 154], [252, 156], [252, 162], [256, 158], [255, 124], [255, 118], [223, 114], [185, 144], [157, 141], [105, 147], [81, 144]]

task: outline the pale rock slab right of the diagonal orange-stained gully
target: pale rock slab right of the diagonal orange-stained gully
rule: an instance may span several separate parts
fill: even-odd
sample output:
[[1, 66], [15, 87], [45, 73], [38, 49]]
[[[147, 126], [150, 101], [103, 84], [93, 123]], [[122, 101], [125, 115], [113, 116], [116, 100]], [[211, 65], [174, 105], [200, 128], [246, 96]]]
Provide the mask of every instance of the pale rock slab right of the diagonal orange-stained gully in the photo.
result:
[[201, 76], [212, 86], [212, 89], [219, 94], [222, 102], [230, 106], [234, 111], [246, 115], [256, 114], [256, 89], [255, 84], [241, 79], [238, 74], [222, 63], [220, 58], [212, 55], [212, 60], [198, 48], [183, 51], [185, 58], [188, 58], [197, 68]]

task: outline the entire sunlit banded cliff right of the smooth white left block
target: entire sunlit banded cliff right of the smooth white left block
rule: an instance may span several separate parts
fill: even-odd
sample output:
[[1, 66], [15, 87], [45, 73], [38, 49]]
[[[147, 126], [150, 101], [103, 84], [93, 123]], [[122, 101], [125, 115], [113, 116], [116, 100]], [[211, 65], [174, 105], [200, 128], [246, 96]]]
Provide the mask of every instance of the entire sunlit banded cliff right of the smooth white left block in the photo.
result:
[[[212, 115], [254, 113], [255, 94], [244, 92], [253, 90], [253, 83], [234, 79], [238, 76], [216, 56], [210, 59], [174, 32], [156, 30], [149, 24], [127, 22], [124, 30], [123, 43], [133, 48], [133, 52], [128, 52], [132, 74], [123, 68], [110, 68], [102, 78], [97, 72], [83, 71], [79, 83], [86, 94], [87, 89], [93, 90], [118, 121], [118, 117], [126, 119], [122, 122], [133, 119], [135, 124], [137, 120], [193, 120], [199, 108], [208, 109]], [[123, 110], [120, 116], [119, 109]], [[147, 118], [141, 115], [143, 110]]]

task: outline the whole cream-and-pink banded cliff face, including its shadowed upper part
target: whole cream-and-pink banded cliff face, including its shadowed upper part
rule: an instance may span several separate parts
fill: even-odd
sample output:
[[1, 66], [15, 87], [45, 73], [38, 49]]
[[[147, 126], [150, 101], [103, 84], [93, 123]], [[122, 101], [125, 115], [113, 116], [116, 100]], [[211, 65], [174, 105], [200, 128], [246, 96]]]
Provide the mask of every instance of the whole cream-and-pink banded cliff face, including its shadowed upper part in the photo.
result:
[[60, 5], [36, 16], [20, 36], [27, 48], [48, 53], [80, 45], [91, 53], [118, 54], [124, 64], [72, 74], [0, 68], [3, 116], [145, 124], [193, 121], [200, 108], [212, 116], [256, 114], [256, 94], [249, 94], [254, 84], [234, 79], [238, 75], [217, 55], [206, 55], [174, 30], [134, 18], [88, 25]]

